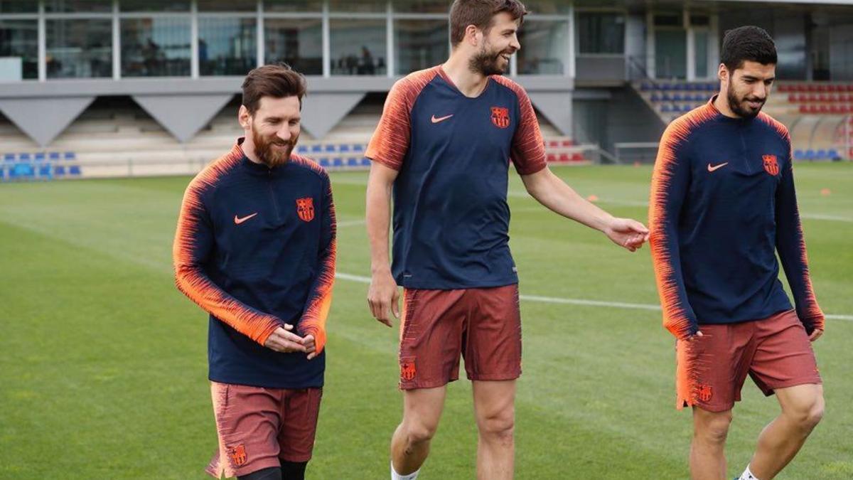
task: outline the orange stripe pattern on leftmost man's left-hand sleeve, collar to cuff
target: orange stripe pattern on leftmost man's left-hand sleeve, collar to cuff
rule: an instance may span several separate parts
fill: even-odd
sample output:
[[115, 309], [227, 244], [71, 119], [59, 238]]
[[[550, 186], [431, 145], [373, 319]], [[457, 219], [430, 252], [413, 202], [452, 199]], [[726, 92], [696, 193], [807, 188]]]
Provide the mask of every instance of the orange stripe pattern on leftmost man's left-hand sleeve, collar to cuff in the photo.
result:
[[177, 290], [181, 290], [206, 312], [263, 345], [267, 337], [281, 326], [281, 322], [275, 316], [258, 312], [229, 296], [207, 277], [195, 255], [198, 235], [203, 222], [206, 221], [201, 218], [204, 211], [201, 196], [216, 185], [225, 173], [238, 165], [241, 158], [242, 150], [239, 145], [235, 145], [227, 155], [213, 161], [189, 184], [177, 220], [172, 261]]

